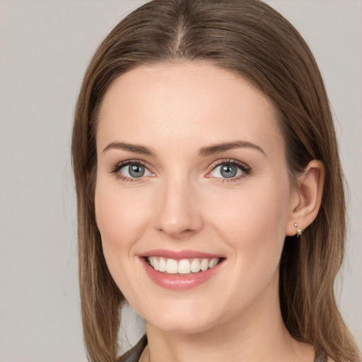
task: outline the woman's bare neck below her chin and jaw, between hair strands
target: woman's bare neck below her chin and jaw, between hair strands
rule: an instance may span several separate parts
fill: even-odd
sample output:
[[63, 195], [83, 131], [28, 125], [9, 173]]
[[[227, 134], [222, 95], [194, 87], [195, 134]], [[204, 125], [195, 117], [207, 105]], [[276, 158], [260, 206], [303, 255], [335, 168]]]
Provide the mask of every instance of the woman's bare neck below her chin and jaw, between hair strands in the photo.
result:
[[148, 346], [140, 361], [312, 362], [313, 348], [294, 340], [284, 326], [278, 288], [265, 292], [239, 315], [202, 332], [183, 334], [146, 324]]

